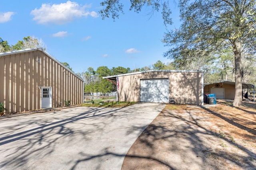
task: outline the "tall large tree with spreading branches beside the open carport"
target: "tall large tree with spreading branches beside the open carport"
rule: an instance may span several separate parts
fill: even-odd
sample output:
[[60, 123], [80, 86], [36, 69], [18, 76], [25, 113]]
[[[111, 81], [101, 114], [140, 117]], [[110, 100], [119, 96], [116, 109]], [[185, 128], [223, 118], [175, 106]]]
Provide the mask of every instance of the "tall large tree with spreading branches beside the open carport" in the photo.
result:
[[[190, 4], [189, 4], [190, 3]], [[235, 98], [233, 106], [242, 106], [242, 53], [255, 54], [256, 2], [254, 0], [180, 1], [182, 25], [168, 31], [164, 42], [175, 45], [165, 57], [175, 58], [184, 49], [197, 49], [210, 56], [223, 43], [233, 48], [235, 63]], [[250, 42], [250, 43], [249, 43]]]

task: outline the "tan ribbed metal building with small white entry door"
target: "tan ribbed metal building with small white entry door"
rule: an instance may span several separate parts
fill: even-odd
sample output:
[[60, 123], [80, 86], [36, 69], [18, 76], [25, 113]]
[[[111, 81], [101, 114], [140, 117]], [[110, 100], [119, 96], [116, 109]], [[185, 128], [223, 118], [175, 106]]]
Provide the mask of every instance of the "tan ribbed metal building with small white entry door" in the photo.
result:
[[83, 79], [42, 49], [0, 53], [0, 102], [7, 113], [83, 102]]

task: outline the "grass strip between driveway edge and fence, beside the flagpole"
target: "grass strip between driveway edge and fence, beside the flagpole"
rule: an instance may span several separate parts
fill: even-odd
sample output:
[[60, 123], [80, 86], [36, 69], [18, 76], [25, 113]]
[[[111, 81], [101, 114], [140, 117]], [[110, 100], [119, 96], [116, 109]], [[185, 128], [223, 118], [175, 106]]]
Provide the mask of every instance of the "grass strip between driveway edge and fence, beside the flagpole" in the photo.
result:
[[137, 102], [118, 102], [116, 103], [116, 101], [114, 102], [104, 102], [102, 100], [100, 101], [95, 101], [94, 100], [94, 104], [92, 103], [82, 103], [80, 104], [80, 106], [84, 106], [84, 107], [127, 107], [130, 106], [132, 104], [136, 104]]

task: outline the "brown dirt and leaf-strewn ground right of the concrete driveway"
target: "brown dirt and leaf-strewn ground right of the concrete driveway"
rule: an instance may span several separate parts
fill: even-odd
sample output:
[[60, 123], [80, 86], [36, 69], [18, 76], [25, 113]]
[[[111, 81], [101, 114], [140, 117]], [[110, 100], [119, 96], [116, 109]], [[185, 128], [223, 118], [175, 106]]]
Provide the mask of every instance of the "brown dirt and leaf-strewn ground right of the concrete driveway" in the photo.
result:
[[[250, 103], [251, 104], [251, 103]], [[124, 170], [254, 170], [256, 109], [167, 105], [128, 151]]]

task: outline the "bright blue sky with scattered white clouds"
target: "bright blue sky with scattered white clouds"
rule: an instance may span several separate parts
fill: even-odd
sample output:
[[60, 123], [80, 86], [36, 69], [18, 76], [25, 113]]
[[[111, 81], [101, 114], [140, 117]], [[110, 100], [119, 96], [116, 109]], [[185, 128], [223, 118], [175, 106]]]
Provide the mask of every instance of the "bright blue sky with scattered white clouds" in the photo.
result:
[[[72, 70], [96, 70], [122, 66], [142, 68], [156, 61], [168, 63], [168, 50], [161, 39], [166, 29], [161, 12], [149, 15], [144, 6], [137, 14], [130, 11], [130, 1], [122, 1], [124, 15], [119, 19], [99, 14], [101, 0], [4, 0], [0, 2], [0, 37], [15, 45], [24, 37], [41, 39], [46, 52]], [[173, 25], [178, 28], [177, 4], [171, 4]]]

